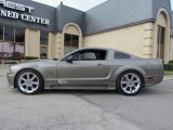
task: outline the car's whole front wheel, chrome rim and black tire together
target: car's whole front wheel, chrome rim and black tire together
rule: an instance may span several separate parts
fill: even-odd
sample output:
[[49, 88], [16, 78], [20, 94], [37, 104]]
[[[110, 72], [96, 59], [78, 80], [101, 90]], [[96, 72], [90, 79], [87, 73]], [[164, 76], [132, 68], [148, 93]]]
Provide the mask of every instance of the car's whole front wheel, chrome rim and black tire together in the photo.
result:
[[35, 70], [23, 70], [15, 79], [16, 88], [24, 94], [36, 94], [43, 90], [43, 79]]

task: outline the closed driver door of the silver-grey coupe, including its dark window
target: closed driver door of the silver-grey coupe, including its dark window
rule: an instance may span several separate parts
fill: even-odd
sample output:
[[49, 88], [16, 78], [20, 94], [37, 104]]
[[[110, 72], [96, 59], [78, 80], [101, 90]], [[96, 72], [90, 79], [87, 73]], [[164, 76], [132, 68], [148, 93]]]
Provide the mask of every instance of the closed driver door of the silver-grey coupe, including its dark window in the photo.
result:
[[[104, 86], [110, 74], [104, 50], [84, 50], [69, 55], [72, 61], [65, 58], [57, 65], [59, 86]], [[68, 56], [67, 56], [68, 57]], [[66, 58], [67, 58], [66, 57]]]

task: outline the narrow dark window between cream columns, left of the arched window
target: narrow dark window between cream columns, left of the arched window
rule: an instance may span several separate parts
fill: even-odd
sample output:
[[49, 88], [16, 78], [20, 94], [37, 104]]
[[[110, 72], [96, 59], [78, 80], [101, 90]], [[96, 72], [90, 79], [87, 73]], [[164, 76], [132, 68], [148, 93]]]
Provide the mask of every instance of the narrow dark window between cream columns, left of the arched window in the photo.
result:
[[49, 34], [40, 32], [40, 58], [48, 58]]

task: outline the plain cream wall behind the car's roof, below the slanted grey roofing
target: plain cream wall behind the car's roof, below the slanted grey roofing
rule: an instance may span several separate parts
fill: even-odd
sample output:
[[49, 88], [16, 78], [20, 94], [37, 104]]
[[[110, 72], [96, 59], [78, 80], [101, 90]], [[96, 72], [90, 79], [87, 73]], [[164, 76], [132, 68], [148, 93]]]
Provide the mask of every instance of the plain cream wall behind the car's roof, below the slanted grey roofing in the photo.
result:
[[146, 23], [84, 37], [84, 47], [112, 48], [141, 57], [152, 57], [154, 24]]

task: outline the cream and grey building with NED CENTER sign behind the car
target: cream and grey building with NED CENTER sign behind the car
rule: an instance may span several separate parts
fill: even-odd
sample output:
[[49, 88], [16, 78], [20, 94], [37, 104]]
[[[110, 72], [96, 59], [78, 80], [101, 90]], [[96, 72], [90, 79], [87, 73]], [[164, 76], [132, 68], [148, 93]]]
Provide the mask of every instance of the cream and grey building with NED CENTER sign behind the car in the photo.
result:
[[59, 58], [83, 47], [173, 60], [170, 0], [107, 0], [82, 12], [30, 0], [0, 0], [0, 61]]

